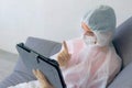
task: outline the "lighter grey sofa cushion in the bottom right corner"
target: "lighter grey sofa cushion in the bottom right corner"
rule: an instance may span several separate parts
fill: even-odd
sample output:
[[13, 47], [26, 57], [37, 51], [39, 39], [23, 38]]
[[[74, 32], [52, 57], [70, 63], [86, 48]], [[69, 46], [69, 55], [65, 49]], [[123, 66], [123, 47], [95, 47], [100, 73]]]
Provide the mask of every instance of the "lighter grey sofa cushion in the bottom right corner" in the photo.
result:
[[108, 88], [132, 88], [132, 63], [117, 76]]

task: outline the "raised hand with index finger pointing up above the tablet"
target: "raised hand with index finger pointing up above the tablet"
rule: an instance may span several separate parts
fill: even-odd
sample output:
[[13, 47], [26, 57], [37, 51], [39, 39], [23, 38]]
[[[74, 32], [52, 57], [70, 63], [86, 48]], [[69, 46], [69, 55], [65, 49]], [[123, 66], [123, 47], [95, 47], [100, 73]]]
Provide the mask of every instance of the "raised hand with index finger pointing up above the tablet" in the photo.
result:
[[61, 67], [66, 66], [72, 56], [72, 54], [68, 53], [68, 47], [65, 41], [63, 42], [63, 45], [64, 50], [57, 55], [57, 62]]

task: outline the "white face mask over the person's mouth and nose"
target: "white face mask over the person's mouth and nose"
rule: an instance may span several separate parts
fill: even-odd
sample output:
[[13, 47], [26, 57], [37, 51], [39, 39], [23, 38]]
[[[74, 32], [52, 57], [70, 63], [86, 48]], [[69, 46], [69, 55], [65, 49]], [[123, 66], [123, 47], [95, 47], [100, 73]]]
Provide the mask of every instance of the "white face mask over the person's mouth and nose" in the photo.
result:
[[96, 44], [97, 41], [96, 36], [88, 36], [88, 35], [84, 35], [82, 40], [86, 43], [86, 45]]

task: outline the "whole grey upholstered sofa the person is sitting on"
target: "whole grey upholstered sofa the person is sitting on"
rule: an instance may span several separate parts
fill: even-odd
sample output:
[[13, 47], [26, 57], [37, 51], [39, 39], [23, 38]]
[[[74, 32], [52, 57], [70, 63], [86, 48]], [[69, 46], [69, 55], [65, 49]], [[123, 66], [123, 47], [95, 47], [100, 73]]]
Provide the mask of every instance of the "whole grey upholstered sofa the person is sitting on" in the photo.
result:
[[[61, 50], [61, 43], [29, 37], [25, 44], [42, 55], [50, 57]], [[122, 69], [108, 88], [132, 88], [132, 16], [117, 28], [113, 40], [117, 53], [123, 61]], [[20, 57], [12, 74], [0, 82], [0, 88], [7, 88], [24, 81], [34, 80], [33, 74], [29, 74]]]

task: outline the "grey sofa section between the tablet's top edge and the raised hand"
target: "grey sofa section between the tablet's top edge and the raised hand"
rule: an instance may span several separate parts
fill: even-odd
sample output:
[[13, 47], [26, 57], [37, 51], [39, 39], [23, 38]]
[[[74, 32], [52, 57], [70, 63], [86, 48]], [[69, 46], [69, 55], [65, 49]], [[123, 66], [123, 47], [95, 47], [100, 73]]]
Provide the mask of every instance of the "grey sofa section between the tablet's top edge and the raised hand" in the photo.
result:
[[28, 38], [25, 45], [46, 57], [59, 52], [62, 47], [62, 44], [58, 42], [32, 36]]

